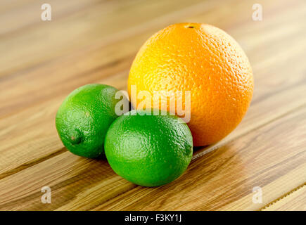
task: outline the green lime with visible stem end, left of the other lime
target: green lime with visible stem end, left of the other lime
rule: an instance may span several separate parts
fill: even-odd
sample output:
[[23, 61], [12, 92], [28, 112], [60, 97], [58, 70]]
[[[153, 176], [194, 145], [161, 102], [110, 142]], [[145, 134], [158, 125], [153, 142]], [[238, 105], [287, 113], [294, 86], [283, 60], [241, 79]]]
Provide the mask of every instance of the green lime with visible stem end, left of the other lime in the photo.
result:
[[103, 153], [106, 131], [118, 117], [117, 91], [113, 86], [87, 84], [65, 98], [56, 114], [56, 129], [70, 152], [87, 158]]

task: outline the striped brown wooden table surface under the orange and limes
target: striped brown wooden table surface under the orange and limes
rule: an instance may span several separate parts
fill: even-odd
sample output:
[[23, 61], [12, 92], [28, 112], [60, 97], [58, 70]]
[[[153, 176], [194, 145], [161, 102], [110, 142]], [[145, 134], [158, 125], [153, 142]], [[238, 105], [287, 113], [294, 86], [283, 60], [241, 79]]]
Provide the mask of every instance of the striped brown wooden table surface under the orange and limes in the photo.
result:
[[[305, 0], [50, 0], [51, 21], [42, 3], [0, 3], [0, 210], [306, 210]], [[243, 122], [158, 188], [64, 148], [65, 96], [89, 83], [127, 89], [141, 44], [185, 21], [220, 27], [246, 51], [255, 92]]]

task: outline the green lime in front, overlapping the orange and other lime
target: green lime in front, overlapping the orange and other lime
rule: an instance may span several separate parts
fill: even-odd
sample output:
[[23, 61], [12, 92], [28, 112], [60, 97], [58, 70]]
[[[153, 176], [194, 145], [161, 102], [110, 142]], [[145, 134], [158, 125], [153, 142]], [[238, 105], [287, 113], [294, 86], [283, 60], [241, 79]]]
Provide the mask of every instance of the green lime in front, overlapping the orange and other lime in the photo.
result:
[[179, 117], [133, 110], [110, 125], [105, 152], [118, 175], [141, 186], [161, 186], [186, 170], [192, 146], [191, 131]]

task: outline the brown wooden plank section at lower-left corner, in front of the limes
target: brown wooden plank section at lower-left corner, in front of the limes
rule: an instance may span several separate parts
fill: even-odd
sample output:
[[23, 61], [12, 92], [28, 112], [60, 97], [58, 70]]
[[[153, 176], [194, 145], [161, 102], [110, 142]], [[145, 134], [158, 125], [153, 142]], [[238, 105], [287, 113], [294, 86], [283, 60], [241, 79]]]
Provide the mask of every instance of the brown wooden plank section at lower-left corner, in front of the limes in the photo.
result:
[[[0, 181], [0, 210], [56, 210], [75, 202], [92, 207], [134, 188], [106, 160], [89, 160], [69, 152], [56, 155]], [[51, 204], [43, 204], [41, 188], [51, 188]]]

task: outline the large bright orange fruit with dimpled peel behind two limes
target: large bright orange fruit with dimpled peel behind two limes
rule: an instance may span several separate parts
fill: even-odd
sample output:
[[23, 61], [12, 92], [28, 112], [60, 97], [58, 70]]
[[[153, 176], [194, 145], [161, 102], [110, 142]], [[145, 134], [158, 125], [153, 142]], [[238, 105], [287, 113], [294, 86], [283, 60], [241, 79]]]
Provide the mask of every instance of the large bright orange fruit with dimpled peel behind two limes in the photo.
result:
[[[137, 93], [151, 95], [191, 91], [188, 125], [193, 145], [206, 146], [223, 139], [241, 122], [254, 81], [246, 54], [229, 34], [212, 25], [178, 23], [160, 30], [141, 47], [129, 72], [130, 96], [131, 85]], [[134, 108], [141, 102], [131, 101]], [[169, 102], [167, 106], [169, 110]]]

